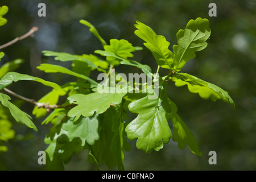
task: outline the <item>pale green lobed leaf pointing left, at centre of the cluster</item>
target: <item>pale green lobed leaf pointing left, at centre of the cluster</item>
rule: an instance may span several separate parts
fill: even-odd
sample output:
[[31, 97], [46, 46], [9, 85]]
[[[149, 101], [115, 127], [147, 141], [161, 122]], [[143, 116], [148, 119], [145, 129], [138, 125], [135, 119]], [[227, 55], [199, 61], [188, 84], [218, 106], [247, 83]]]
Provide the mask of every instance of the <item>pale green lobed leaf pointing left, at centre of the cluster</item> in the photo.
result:
[[[126, 89], [126, 88], [124, 88]], [[76, 104], [76, 107], [73, 107], [68, 112], [69, 117], [76, 117], [75, 121], [80, 118], [81, 115], [84, 117], [89, 117], [96, 112], [97, 114], [104, 113], [109, 107], [110, 104], [120, 104], [123, 96], [126, 93], [90, 93], [87, 95], [84, 94], [74, 94], [68, 97], [68, 100], [71, 104]]]

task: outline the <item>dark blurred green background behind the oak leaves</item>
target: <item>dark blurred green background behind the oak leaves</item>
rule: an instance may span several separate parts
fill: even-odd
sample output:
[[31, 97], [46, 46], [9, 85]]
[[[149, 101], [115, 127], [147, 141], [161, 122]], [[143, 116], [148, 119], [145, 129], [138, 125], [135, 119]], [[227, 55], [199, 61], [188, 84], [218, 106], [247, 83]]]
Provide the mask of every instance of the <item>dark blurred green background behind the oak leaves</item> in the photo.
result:
[[[47, 16], [38, 16], [38, 4], [46, 3]], [[217, 17], [208, 15], [208, 5], [217, 5]], [[25, 62], [17, 72], [42, 77], [61, 85], [72, 81], [61, 74], [46, 74], [36, 69], [41, 63], [59, 63], [52, 57], [44, 57], [43, 50], [68, 52], [76, 55], [93, 53], [102, 49], [101, 43], [79, 23], [86, 19], [94, 24], [102, 38], [127, 39], [133, 46], [143, 46], [143, 41], [134, 34], [136, 20], [150, 26], [158, 35], [163, 35], [176, 44], [176, 32], [184, 29], [190, 19], [207, 18], [212, 34], [208, 47], [197, 52], [195, 59], [188, 62], [183, 72], [212, 82], [228, 91], [236, 103], [236, 109], [222, 101], [203, 100], [189, 93], [185, 86], [176, 88], [169, 84], [168, 96], [177, 104], [178, 113], [191, 129], [202, 157], [192, 154], [188, 147], [179, 150], [177, 143], [165, 144], [159, 152], [144, 154], [137, 150], [135, 141], [132, 150], [125, 153], [127, 170], [255, 170], [256, 169], [256, 2], [236, 1], [72, 1], [48, 0], [1, 1], [0, 6], [9, 6], [4, 17], [8, 23], [0, 29], [0, 44], [25, 34], [32, 26], [39, 31], [34, 38], [27, 38], [5, 48], [6, 56], [0, 65], [17, 58]], [[172, 50], [172, 47], [170, 49]], [[148, 64], [155, 72], [157, 65], [151, 52], [144, 48], [135, 53], [134, 60]], [[138, 72], [137, 69], [119, 66], [117, 72]], [[160, 75], [166, 74], [160, 69]], [[95, 76], [95, 75], [94, 75]], [[34, 82], [17, 82], [11, 90], [28, 98], [39, 100], [49, 92]], [[16, 105], [31, 115], [33, 106], [15, 100]], [[50, 125], [41, 126], [41, 119], [33, 117], [39, 133], [13, 122], [15, 138], [5, 143], [7, 152], [0, 154], [0, 169], [43, 170], [39, 166], [38, 151], [45, 150], [43, 139]], [[170, 125], [171, 126], [171, 125]], [[209, 165], [209, 151], [217, 152], [217, 165]], [[86, 151], [75, 154], [66, 166], [68, 170], [95, 170], [86, 160]], [[108, 169], [101, 166], [102, 169]], [[116, 168], [114, 168], [116, 169]]]

